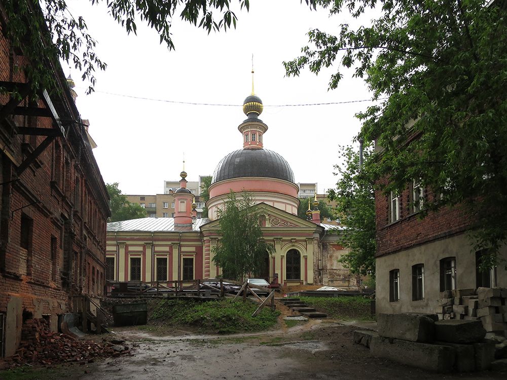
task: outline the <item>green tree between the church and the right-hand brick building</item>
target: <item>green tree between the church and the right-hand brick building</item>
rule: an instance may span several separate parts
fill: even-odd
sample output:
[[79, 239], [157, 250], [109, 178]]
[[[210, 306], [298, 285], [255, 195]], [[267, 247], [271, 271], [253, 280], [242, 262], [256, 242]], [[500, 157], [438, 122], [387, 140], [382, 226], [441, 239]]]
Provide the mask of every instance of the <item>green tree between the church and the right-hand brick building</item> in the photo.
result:
[[364, 148], [363, 168], [359, 170], [359, 155], [351, 146], [344, 146], [341, 165], [335, 165], [340, 177], [336, 190], [329, 196], [337, 201], [337, 212], [347, 226], [341, 231], [340, 243], [350, 249], [340, 257], [340, 262], [353, 274], [375, 278], [375, 165], [373, 149]]

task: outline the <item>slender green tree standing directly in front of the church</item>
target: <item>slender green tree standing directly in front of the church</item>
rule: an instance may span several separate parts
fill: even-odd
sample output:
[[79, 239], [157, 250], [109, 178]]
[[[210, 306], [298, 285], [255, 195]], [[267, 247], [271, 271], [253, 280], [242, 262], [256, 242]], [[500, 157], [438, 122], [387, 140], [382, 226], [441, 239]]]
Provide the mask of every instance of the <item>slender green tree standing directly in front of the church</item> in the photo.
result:
[[239, 197], [231, 192], [224, 208], [219, 209], [220, 240], [214, 248], [213, 262], [222, 268], [223, 276], [242, 280], [248, 274], [259, 276], [265, 258], [273, 247], [263, 240], [259, 213], [251, 193]]

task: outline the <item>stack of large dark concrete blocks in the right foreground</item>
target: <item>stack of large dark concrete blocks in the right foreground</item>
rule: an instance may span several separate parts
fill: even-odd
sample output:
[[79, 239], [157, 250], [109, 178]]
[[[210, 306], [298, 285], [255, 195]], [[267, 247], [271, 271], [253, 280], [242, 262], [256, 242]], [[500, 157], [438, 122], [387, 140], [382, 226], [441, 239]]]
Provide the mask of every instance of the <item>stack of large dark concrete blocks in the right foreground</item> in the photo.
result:
[[379, 314], [378, 332], [354, 331], [372, 355], [437, 372], [507, 371], [507, 340], [480, 320], [439, 320], [435, 314]]

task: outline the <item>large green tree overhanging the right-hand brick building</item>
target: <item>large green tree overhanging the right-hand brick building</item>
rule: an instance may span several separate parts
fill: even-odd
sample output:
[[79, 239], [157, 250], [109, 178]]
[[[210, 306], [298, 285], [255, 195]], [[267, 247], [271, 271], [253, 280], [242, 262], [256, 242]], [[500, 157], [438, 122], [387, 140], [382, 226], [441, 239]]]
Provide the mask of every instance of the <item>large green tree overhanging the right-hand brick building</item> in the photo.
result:
[[[486, 3], [318, 0], [331, 14], [375, 8], [378, 17], [338, 35], [310, 30], [313, 45], [284, 64], [288, 75], [353, 67], [377, 100], [358, 117], [361, 135], [382, 147], [373, 172], [389, 178], [383, 191], [420, 178], [436, 195], [423, 214], [462, 207], [475, 248], [492, 248], [490, 265], [507, 240], [507, 7]], [[343, 75], [333, 67], [331, 89]]]

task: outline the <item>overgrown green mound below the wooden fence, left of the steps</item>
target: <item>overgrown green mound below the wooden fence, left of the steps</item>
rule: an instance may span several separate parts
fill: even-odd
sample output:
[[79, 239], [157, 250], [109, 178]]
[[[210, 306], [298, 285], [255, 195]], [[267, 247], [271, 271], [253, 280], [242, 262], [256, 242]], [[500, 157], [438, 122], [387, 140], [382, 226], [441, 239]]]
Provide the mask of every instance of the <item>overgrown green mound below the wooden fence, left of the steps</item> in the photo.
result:
[[278, 311], [265, 308], [251, 317], [257, 306], [251, 302], [230, 299], [200, 301], [194, 299], [166, 299], [156, 301], [150, 320], [173, 327], [193, 327], [201, 332], [235, 333], [263, 331], [277, 322]]

